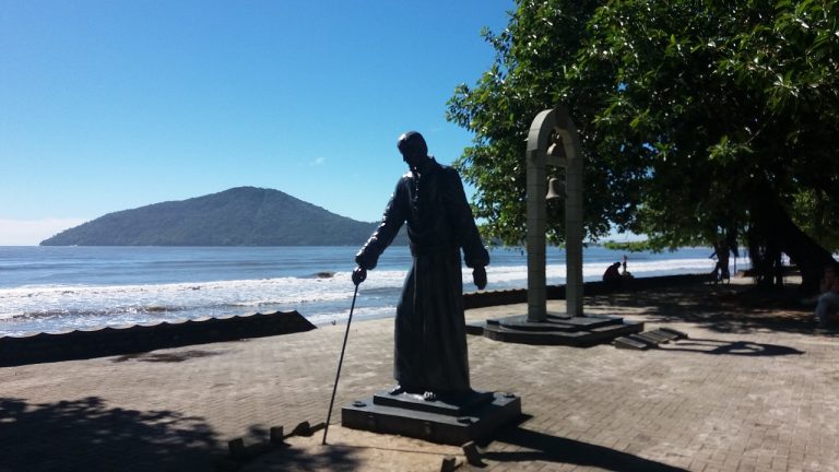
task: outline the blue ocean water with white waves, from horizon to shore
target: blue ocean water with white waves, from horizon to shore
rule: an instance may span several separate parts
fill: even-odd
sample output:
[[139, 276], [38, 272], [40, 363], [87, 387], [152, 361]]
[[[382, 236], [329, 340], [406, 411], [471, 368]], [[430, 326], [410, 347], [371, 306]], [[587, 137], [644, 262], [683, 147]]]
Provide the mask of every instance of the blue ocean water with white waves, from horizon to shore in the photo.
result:
[[[341, 321], [353, 297], [355, 247], [0, 247], [0, 335], [61, 332], [276, 310]], [[710, 272], [709, 248], [629, 252], [635, 276]], [[624, 252], [583, 251], [583, 279], [600, 280]], [[527, 287], [521, 249], [493, 249], [487, 290]], [[743, 259], [738, 259], [743, 268]], [[732, 263], [734, 261], [732, 260]], [[361, 285], [354, 317], [392, 316], [411, 266], [391, 247]], [[732, 268], [733, 269], [733, 268]], [[547, 283], [565, 283], [565, 252], [547, 250]], [[464, 267], [464, 291], [474, 291]]]

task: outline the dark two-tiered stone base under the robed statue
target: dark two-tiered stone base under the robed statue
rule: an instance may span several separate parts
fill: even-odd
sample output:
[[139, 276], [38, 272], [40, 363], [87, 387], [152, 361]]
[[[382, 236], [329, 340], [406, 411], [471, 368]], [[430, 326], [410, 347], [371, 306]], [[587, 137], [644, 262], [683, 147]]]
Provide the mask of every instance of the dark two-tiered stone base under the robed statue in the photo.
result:
[[488, 440], [496, 429], [519, 417], [521, 399], [518, 396], [478, 391], [458, 399], [433, 401], [415, 393], [381, 391], [341, 410], [344, 427], [453, 446]]

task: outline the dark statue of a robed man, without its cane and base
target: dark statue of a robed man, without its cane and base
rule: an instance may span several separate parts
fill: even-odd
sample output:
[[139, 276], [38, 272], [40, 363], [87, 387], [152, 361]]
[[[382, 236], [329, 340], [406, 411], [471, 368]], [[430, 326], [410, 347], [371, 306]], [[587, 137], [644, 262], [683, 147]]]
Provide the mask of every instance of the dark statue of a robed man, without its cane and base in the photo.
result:
[[463, 316], [461, 249], [478, 290], [486, 286], [489, 253], [481, 240], [460, 176], [428, 156], [423, 137], [402, 134], [397, 143], [410, 170], [397, 184], [381, 224], [355, 257], [357, 285], [407, 223], [413, 267], [397, 305], [390, 392], [422, 393], [426, 400], [470, 393]]

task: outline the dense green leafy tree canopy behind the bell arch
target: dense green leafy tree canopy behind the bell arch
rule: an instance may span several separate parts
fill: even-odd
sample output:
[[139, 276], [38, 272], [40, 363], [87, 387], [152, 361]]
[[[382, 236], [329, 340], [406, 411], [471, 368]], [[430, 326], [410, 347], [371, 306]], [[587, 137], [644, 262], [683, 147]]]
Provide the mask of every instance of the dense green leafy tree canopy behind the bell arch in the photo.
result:
[[[838, 1], [519, 0], [496, 60], [448, 118], [484, 231], [524, 234], [524, 139], [564, 104], [586, 154], [586, 227], [654, 247], [748, 244], [806, 283], [839, 248]], [[562, 208], [548, 238], [563, 239]]]

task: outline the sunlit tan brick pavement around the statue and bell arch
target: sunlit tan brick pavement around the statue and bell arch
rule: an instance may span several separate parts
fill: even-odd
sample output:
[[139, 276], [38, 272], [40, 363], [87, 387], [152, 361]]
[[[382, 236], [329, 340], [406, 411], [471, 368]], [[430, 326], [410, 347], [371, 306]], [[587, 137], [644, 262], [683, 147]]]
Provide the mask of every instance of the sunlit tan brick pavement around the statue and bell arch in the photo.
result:
[[[690, 334], [647, 352], [470, 337], [473, 386], [520, 394], [528, 415], [486, 445], [482, 470], [839, 471], [839, 340], [815, 332], [806, 311], [733, 303], [731, 293], [744, 288], [586, 299], [588, 312]], [[550, 309], [563, 311], [563, 302]], [[323, 421], [343, 332], [329, 326], [0, 368], [0, 472], [213, 470], [231, 438]], [[388, 470], [392, 458], [405, 469], [407, 452], [424, 458], [407, 469], [439, 470], [451, 449], [416, 440], [382, 446], [378, 435], [347, 435], [336, 424], [342, 404], [392, 384], [391, 363], [392, 320], [354, 322], [330, 429], [335, 440], [321, 447], [318, 436], [248, 470]]]

